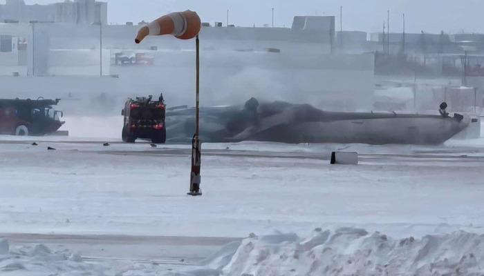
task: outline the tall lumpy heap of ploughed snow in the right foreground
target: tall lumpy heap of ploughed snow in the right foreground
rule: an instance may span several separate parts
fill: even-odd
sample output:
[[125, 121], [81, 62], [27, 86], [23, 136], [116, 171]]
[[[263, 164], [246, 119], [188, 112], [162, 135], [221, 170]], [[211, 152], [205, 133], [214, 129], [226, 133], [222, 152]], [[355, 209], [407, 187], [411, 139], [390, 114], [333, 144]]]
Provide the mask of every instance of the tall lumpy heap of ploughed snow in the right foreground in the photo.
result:
[[392, 239], [357, 228], [316, 229], [307, 238], [252, 235], [229, 256], [221, 275], [481, 275], [484, 235]]

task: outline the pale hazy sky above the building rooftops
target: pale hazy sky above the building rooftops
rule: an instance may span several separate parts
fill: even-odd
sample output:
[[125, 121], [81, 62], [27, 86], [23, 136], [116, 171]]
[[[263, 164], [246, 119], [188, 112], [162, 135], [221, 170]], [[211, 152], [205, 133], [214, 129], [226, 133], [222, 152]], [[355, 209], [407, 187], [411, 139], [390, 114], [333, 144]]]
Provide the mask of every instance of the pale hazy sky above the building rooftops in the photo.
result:
[[[25, 0], [26, 3], [54, 3], [63, 0]], [[5, 2], [5, 0], [0, 0]], [[230, 23], [236, 26], [262, 26], [271, 22], [290, 26], [295, 15], [336, 15], [343, 6], [344, 30], [382, 30], [390, 11], [392, 32], [401, 32], [402, 13], [408, 32], [483, 32], [484, 0], [107, 0], [109, 22], [150, 21], [160, 14], [178, 10], [196, 10], [203, 21], [222, 21], [227, 9]]]

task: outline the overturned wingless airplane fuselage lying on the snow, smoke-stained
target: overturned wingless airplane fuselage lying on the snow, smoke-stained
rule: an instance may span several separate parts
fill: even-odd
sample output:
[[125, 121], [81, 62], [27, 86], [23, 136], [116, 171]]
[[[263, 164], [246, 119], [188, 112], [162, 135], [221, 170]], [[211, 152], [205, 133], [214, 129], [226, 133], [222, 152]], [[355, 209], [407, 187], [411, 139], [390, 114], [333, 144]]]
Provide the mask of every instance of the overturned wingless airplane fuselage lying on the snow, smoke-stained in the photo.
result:
[[[205, 142], [274, 141], [299, 143], [442, 144], [469, 125], [463, 115], [326, 112], [308, 104], [282, 101], [201, 108]], [[168, 110], [169, 141], [190, 141], [194, 109]]]

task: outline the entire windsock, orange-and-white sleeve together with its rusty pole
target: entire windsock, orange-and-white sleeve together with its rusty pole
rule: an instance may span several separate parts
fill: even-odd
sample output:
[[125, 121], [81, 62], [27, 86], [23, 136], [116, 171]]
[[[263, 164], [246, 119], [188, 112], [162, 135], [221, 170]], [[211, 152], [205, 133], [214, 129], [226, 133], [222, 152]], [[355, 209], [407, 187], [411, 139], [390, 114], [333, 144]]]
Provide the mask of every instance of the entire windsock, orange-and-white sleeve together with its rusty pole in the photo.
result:
[[192, 139], [192, 173], [190, 175], [190, 191], [188, 195], [202, 195], [201, 183], [201, 141], [199, 139], [200, 119], [200, 41], [198, 32], [202, 27], [201, 19], [196, 12], [185, 10], [185, 12], [172, 12], [164, 15], [148, 26], [143, 26], [136, 36], [135, 42], [141, 43], [145, 37], [150, 35], [171, 34], [178, 39], [193, 39], [196, 37], [196, 128]]

